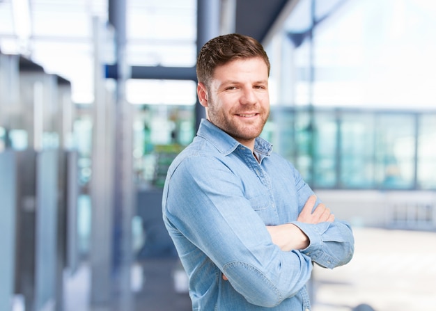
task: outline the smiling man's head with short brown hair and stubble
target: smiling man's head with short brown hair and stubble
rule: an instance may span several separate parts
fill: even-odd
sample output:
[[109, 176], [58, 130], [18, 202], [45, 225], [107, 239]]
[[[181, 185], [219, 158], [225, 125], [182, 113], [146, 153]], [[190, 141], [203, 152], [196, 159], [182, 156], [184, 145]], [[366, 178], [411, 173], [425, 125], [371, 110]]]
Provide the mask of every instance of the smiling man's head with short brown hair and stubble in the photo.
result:
[[244, 35], [214, 38], [200, 51], [197, 75], [208, 120], [253, 150], [270, 114], [270, 62], [262, 45]]

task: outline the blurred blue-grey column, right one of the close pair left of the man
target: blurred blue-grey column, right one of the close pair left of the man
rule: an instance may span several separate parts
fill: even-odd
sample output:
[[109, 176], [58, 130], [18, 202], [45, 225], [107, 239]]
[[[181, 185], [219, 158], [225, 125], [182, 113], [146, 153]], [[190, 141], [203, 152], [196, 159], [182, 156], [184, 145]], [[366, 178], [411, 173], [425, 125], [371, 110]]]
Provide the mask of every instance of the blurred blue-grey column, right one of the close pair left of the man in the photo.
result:
[[115, 205], [114, 205], [114, 276], [120, 293], [119, 303], [123, 310], [132, 310], [133, 296], [130, 289], [130, 270], [133, 263], [132, 219], [134, 216], [133, 183], [133, 108], [126, 100], [125, 83], [130, 78], [126, 60], [126, 13], [125, 0], [109, 0], [109, 23], [116, 33], [116, 141], [115, 141]]

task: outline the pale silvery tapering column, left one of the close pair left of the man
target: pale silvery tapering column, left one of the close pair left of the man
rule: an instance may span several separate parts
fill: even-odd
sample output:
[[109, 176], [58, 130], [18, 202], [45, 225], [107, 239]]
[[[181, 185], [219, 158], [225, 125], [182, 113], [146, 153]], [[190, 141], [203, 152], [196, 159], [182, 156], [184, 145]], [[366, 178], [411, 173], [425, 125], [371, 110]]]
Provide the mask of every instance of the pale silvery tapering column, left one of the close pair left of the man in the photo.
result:
[[109, 118], [108, 99], [104, 88], [102, 69], [102, 37], [105, 29], [100, 20], [93, 19], [94, 40], [94, 106], [93, 106], [93, 151], [91, 179], [91, 304], [107, 304], [111, 300], [111, 254], [112, 254], [112, 172], [111, 147], [113, 137]]

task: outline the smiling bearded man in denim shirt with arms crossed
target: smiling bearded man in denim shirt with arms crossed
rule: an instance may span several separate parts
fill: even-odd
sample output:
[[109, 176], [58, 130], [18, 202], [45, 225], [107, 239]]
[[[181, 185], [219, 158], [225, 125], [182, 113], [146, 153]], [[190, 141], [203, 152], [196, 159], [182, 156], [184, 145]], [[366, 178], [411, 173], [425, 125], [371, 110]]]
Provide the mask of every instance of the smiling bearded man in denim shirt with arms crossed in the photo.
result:
[[260, 43], [221, 35], [203, 46], [196, 70], [207, 120], [171, 164], [162, 200], [192, 308], [311, 310], [312, 262], [349, 262], [352, 231], [259, 137], [270, 113]]

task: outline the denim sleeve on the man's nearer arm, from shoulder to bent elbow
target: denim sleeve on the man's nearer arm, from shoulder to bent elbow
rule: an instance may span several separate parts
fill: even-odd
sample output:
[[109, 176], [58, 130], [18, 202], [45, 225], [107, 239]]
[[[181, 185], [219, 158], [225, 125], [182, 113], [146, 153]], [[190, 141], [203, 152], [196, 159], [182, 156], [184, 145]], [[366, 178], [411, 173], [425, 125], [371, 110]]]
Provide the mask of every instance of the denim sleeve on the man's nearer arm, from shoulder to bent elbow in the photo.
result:
[[169, 176], [166, 191], [164, 208], [171, 225], [250, 303], [278, 305], [309, 280], [311, 257], [272, 244], [265, 224], [244, 198], [240, 177], [220, 159], [184, 159]]

